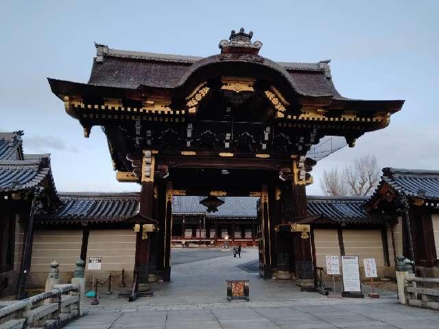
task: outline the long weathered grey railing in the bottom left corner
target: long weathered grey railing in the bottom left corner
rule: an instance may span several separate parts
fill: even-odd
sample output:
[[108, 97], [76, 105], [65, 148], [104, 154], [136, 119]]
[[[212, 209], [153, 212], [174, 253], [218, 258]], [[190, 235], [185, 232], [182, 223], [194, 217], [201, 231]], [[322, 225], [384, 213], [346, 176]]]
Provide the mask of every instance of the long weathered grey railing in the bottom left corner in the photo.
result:
[[54, 289], [0, 308], [0, 329], [60, 328], [80, 315], [78, 284]]

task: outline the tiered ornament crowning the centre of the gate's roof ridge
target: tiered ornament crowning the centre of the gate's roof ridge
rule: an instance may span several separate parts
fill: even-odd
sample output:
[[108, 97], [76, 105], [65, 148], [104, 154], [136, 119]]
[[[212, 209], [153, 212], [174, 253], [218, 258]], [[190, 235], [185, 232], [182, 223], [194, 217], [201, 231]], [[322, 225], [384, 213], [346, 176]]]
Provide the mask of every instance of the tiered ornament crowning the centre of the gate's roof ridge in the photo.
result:
[[238, 33], [233, 29], [230, 32], [230, 38], [219, 41], [218, 47], [221, 49], [221, 53], [249, 53], [257, 55], [262, 47], [262, 42], [254, 41], [252, 43], [252, 36], [253, 32], [245, 33], [244, 27], [241, 27]]

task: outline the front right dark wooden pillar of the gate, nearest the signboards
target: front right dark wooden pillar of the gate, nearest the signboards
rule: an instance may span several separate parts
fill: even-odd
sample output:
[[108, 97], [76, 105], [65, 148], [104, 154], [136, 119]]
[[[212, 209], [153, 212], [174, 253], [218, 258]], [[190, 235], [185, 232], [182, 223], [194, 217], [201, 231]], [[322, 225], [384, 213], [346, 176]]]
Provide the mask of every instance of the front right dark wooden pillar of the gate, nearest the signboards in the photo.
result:
[[[305, 184], [292, 182], [292, 215], [297, 222], [307, 218], [307, 195]], [[294, 268], [296, 283], [300, 287], [313, 287], [314, 270], [311, 254], [311, 239], [302, 239], [300, 232], [293, 233]]]

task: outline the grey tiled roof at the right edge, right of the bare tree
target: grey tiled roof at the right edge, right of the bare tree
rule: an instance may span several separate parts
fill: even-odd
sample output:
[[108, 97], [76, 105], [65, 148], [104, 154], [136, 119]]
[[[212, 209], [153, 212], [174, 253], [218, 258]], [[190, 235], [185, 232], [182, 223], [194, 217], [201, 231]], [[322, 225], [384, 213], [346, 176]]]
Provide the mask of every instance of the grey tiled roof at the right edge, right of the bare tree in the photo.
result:
[[384, 168], [376, 191], [383, 184], [407, 197], [439, 199], [439, 171]]

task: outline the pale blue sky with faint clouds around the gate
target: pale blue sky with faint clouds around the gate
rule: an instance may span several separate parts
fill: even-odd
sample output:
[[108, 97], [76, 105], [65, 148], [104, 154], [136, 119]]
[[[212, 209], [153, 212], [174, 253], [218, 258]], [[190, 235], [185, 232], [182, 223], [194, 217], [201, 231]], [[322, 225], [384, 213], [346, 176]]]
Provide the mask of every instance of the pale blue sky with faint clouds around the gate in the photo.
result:
[[58, 191], [137, 191], [115, 180], [104, 134], [64, 112], [46, 77], [87, 82], [100, 42], [127, 50], [210, 56], [231, 29], [283, 62], [331, 58], [345, 97], [405, 99], [390, 126], [321, 160], [323, 169], [376, 154], [381, 167], [439, 170], [439, 1], [0, 2], [0, 131], [24, 130], [25, 153], [50, 153]]

